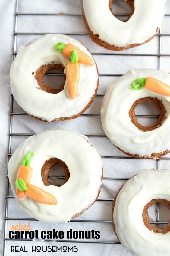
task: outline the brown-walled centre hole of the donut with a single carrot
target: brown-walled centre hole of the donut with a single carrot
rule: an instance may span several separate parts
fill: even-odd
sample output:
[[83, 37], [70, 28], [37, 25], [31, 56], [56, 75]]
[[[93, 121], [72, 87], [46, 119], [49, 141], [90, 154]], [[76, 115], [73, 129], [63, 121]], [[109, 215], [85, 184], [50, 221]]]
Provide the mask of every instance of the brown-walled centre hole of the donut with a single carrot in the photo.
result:
[[[139, 108], [141, 109], [140, 115], [156, 116], [157, 113], [159, 113], [159, 115], [158, 117], [136, 117], [136, 113], [139, 111]], [[162, 101], [158, 98], [152, 97], [145, 97], [136, 100], [129, 110], [129, 116], [132, 123], [143, 132], [152, 131], [161, 126], [165, 119], [165, 114], [166, 110]]]

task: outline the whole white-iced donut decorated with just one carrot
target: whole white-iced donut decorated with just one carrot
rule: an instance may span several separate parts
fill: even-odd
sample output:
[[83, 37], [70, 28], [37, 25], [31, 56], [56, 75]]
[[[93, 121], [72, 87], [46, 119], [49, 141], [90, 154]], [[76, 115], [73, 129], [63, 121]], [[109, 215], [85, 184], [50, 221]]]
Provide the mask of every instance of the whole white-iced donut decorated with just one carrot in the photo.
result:
[[[149, 80], [145, 86], [138, 87], [137, 84], [134, 85], [137, 90], [130, 88], [131, 83], [136, 83], [133, 83], [135, 79], [146, 80], [146, 77]], [[149, 90], [149, 87], [156, 90]], [[168, 90], [167, 95], [162, 94], [166, 93], [164, 87]], [[135, 116], [134, 109], [142, 102], [153, 104], [159, 111], [158, 120], [151, 126], [142, 126]], [[101, 120], [107, 137], [128, 156], [158, 159], [169, 153], [170, 74], [152, 69], [129, 70], [107, 88], [102, 101]]]

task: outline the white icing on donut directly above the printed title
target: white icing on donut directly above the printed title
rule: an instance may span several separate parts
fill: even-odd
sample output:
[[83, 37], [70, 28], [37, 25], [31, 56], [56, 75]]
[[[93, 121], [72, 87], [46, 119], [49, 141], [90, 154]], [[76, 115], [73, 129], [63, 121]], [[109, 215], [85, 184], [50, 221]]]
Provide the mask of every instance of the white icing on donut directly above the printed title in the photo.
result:
[[[30, 157], [30, 183], [52, 194], [56, 205], [39, 203], [27, 196], [17, 199], [17, 172], [30, 151], [34, 152]], [[41, 168], [46, 160], [55, 157], [66, 163], [70, 178], [61, 187], [45, 186]], [[8, 175], [17, 204], [24, 212], [41, 221], [67, 222], [95, 201], [101, 185], [102, 162], [86, 136], [74, 131], [47, 130], [29, 137], [17, 148], [9, 160]]]

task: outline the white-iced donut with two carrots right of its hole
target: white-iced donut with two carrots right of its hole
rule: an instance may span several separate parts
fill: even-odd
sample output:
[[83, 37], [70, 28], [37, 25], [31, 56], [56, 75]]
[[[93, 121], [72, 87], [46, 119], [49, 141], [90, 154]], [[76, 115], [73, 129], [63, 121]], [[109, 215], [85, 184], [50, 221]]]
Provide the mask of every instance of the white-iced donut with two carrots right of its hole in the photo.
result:
[[[59, 42], [61, 45], [56, 50], [54, 46]], [[64, 49], [62, 45], [67, 47]], [[70, 63], [71, 45], [78, 53], [78, 64]], [[80, 62], [84, 56], [92, 64]], [[78, 71], [75, 66], [79, 67]], [[43, 76], [51, 69], [64, 73], [65, 81], [58, 89], [44, 84]], [[46, 34], [19, 47], [11, 65], [10, 80], [11, 91], [18, 105], [37, 120], [51, 122], [70, 120], [87, 110], [96, 96], [99, 75], [92, 55], [80, 41], [66, 35]], [[74, 84], [71, 84], [72, 80]], [[75, 85], [75, 97], [71, 97], [69, 85]]]

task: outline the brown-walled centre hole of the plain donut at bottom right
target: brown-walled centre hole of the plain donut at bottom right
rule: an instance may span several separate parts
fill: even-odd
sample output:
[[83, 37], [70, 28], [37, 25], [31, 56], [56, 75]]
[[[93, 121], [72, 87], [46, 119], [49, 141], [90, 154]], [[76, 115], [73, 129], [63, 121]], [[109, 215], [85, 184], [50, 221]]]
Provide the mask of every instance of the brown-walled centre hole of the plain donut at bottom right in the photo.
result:
[[157, 215], [158, 212], [158, 203], [160, 204], [160, 208], [164, 208], [164, 215], [167, 216], [167, 219], [170, 216], [170, 201], [165, 199], [153, 199], [151, 200], [147, 205], [145, 205], [142, 213], [143, 222], [145, 226], [152, 230], [155, 233], [167, 233], [170, 231], [170, 220], [168, 224], [159, 224], [159, 227], [157, 226], [157, 223], [151, 224], [150, 222], [150, 215], [151, 213], [155, 212]]

